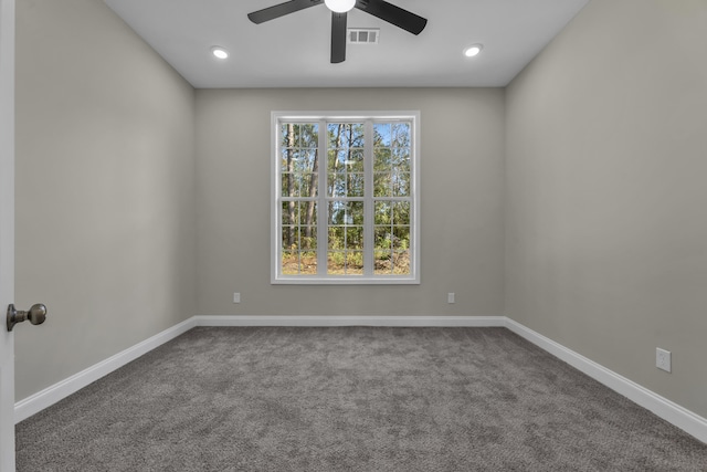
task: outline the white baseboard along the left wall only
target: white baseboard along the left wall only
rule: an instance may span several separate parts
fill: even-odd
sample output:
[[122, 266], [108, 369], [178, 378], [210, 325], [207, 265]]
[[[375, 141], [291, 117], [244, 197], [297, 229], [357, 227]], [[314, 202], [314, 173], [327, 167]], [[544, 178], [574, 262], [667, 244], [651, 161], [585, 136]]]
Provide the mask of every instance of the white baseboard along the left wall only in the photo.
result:
[[14, 403], [14, 423], [39, 413], [196, 326], [193, 317]]

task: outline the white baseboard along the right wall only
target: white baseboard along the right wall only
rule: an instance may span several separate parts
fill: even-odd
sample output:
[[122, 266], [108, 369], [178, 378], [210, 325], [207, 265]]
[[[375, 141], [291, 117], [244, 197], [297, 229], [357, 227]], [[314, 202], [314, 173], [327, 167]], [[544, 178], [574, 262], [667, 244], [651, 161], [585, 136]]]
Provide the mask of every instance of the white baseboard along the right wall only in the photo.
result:
[[707, 443], [707, 419], [513, 319], [506, 318], [506, 327], [576, 369], [587, 374], [594, 380], [623, 395], [631, 401], [652, 411], [657, 417], [663, 418], [665, 421], [694, 436], [701, 442]]

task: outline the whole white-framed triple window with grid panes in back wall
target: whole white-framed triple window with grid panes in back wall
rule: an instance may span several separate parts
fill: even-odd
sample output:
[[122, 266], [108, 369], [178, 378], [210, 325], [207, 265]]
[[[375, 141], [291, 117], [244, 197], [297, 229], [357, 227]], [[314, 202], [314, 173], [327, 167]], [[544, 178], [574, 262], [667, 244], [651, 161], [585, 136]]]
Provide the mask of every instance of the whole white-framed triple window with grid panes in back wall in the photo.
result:
[[273, 283], [420, 283], [419, 122], [273, 113]]

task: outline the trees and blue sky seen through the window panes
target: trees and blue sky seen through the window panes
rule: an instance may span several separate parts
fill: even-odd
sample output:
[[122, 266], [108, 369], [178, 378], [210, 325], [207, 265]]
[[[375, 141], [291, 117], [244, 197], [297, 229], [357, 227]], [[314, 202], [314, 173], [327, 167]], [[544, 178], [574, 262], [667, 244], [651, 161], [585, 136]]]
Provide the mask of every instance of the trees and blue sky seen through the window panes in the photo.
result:
[[[319, 162], [319, 128], [318, 123], [279, 127], [282, 273], [317, 274], [317, 251], [323, 249], [317, 247], [318, 204], [326, 204], [326, 273], [362, 274], [365, 204], [372, 204], [373, 273], [410, 274], [410, 123], [373, 123], [368, 203], [365, 125], [327, 124], [325, 171]], [[326, 179], [325, 200], [318, 195], [320, 178]]]

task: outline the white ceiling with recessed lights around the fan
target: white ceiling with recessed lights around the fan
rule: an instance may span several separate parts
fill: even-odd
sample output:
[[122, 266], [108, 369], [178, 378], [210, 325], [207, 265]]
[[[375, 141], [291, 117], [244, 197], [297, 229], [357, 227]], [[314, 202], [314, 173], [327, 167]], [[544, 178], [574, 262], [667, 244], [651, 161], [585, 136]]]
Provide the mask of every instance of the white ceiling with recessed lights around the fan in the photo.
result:
[[[380, 28], [380, 43], [348, 44], [340, 64], [324, 3], [254, 24], [247, 13], [282, 0], [105, 2], [194, 87], [229, 88], [505, 86], [588, 0], [390, 0], [429, 20], [418, 36], [354, 9], [348, 27]], [[483, 52], [465, 57], [474, 43]]]

